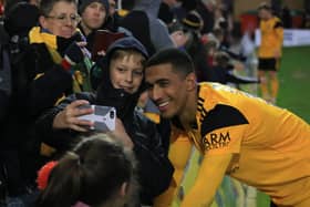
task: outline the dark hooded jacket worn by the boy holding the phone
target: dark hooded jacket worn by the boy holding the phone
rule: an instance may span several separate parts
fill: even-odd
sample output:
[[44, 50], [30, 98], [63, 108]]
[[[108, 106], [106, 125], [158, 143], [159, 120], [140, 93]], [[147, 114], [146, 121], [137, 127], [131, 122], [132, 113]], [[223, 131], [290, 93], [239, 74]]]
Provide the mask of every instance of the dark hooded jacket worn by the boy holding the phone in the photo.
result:
[[145, 48], [136, 39], [130, 37], [117, 40], [110, 46], [105, 59], [101, 62], [103, 80], [96, 94], [78, 93], [69, 96], [59, 106], [46, 111], [38, 120], [35, 128], [37, 134], [45, 137], [48, 144], [65, 151], [76, 141], [79, 133], [70, 130], [54, 131], [52, 122], [54, 116], [68, 104], [75, 100], [87, 100], [90, 104], [116, 107], [117, 117], [122, 120], [126, 133], [134, 143], [134, 152], [138, 162], [138, 182], [142, 187], [141, 203], [152, 205], [153, 198], [168, 187], [174, 169], [166, 156], [156, 124], [135, 110], [143, 85], [134, 94], [112, 86], [108, 72], [110, 56], [115, 50], [128, 49], [136, 50], [147, 58]]

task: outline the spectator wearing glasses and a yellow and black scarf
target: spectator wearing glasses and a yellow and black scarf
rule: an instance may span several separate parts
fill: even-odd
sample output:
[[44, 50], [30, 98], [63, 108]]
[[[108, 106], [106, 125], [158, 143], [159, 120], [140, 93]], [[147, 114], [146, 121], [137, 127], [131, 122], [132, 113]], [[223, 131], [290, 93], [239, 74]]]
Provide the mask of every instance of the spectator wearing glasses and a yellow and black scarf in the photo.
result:
[[[74, 0], [42, 0], [39, 27], [29, 33], [30, 115], [37, 116], [72, 92], [92, 91], [87, 81], [91, 61], [85, 38], [76, 29], [81, 18]], [[87, 59], [89, 60], [89, 59]], [[86, 66], [85, 66], [86, 65]]]

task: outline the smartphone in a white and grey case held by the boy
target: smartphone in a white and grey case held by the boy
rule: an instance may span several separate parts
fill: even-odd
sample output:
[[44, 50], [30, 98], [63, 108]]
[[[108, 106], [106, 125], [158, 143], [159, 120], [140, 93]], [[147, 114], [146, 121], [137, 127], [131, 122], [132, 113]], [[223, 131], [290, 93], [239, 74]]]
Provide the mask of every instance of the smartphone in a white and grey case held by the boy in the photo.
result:
[[82, 105], [80, 108], [92, 107], [94, 113], [79, 116], [79, 120], [86, 120], [94, 122], [91, 130], [100, 132], [108, 132], [115, 130], [116, 110], [112, 106], [102, 105]]

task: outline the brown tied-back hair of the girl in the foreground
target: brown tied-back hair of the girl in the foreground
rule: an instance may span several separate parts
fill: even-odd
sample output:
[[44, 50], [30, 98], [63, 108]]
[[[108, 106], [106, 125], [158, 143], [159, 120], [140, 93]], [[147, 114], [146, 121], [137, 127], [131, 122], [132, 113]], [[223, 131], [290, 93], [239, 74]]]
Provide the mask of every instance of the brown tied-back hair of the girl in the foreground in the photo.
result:
[[51, 170], [37, 206], [71, 207], [79, 201], [103, 206], [120, 199], [117, 194], [124, 183], [133, 189], [133, 153], [114, 139], [106, 134], [93, 135], [66, 153]]

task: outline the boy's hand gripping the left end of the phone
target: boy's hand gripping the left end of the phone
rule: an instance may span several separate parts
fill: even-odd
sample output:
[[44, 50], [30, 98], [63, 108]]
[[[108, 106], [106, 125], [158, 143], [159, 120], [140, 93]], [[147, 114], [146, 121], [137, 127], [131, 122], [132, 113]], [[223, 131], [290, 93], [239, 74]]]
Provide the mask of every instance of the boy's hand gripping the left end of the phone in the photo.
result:
[[89, 104], [85, 100], [78, 100], [69, 104], [63, 111], [58, 113], [53, 121], [53, 128], [71, 128], [78, 132], [87, 132], [94, 123], [78, 117], [93, 113], [93, 108], [80, 108]]

